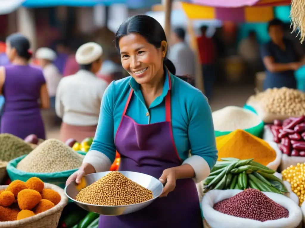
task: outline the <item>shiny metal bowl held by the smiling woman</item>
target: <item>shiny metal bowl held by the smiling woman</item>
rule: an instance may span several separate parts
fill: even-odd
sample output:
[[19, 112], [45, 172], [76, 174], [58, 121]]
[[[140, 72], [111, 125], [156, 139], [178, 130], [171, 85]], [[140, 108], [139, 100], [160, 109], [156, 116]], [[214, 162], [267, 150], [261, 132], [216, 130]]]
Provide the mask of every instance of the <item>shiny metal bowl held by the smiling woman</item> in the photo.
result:
[[[85, 185], [82, 187], [91, 185], [93, 182], [99, 180], [100, 178], [102, 178], [103, 176], [105, 176], [110, 172], [111, 171], [86, 175], [84, 177]], [[75, 200], [76, 195], [78, 194], [78, 192], [80, 192], [80, 189], [78, 188], [75, 181], [72, 181], [69, 185], [66, 186], [65, 193], [74, 203], [76, 203], [78, 206], [80, 206], [81, 208], [87, 211], [95, 212], [101, 215], [118, 216], [118, 215], [126, 215], [132, 212], [136, 212], [138, 210], [147, 207], [156, 198], [158, 198], [163, 191], [162, 183], [158, 179], [150, 175], [137, 173], [137, 172], [130, 172], [130, 171], [119, 171], [119, 172], [123, 174], [125, 177], [131, 179], [132, 181], [135, 181], [139, 185], [142, 185], [144, 188], [147, 188], [148, 190], [152, 191], [153, 198], [142, 203], [123, 205], [123, 206], [100, 206], [100, 205], [83, 203]]]

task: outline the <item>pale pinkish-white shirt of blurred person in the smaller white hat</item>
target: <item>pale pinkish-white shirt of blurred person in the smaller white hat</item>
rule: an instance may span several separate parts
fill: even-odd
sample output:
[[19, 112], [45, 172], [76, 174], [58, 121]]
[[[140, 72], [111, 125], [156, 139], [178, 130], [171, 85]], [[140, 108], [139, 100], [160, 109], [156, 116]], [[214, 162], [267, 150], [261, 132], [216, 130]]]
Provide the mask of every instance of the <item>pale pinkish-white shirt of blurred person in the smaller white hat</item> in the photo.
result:
[[59, 70], [54, 64], [48, 64], [42, 69], [50, 97], [55, 97], [57, 86], [62, 78]]

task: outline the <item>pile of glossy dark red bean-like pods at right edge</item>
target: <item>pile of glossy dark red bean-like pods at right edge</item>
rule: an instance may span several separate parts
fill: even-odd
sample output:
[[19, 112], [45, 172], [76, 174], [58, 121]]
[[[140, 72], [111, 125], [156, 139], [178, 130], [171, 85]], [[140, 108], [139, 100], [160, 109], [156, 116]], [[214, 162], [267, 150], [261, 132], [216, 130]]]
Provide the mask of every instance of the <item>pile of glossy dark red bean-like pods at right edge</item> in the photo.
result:
[[270, 129], [283, 154], [305, 157], [305, 116], [274, 120]]

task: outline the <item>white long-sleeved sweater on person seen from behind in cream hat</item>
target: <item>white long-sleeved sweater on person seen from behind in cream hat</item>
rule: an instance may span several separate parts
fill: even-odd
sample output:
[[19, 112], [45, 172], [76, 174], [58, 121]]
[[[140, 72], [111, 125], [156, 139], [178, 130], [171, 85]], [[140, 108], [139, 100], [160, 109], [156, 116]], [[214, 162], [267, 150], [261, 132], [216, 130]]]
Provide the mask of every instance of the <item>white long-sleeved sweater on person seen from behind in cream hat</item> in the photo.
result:
[[62, 78], [56, 92], [57, 116], [74, 126], [97, 125], [107, 86], [106, 81], [85, 70]]

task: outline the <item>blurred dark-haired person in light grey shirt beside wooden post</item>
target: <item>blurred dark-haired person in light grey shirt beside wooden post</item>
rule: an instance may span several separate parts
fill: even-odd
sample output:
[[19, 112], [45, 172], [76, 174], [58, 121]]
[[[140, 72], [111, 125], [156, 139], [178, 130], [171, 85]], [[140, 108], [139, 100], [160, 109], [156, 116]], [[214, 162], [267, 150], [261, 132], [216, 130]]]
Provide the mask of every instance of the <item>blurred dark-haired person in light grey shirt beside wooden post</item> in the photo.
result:
[[175, 28], [171, 34], [173, 45], [170, 47], [168, 58], [176, 67], [176, 75], [195, 75], [195, 55], [185, 42], [185, 30]]

